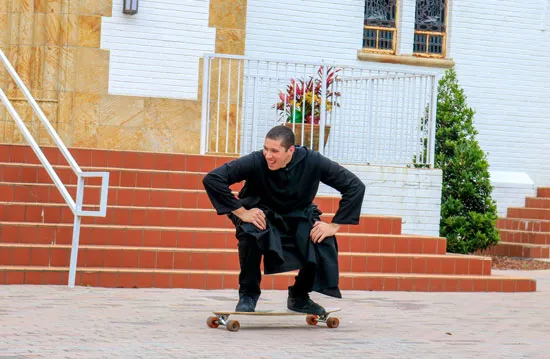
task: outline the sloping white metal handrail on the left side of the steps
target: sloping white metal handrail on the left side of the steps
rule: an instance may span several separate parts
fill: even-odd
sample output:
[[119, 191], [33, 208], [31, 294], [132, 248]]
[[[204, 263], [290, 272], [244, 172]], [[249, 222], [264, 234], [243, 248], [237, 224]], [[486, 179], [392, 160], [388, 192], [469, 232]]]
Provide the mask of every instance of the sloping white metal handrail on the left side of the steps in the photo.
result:
[[[74, 160], [73, 156], [70, 154], [69, 150], [63, 142], [61, 141], [61, 138], [57, 135], [55, 132], [55, 129], [52, 127], [46, 116], [44, 115], [44, 112], [40, 109], [34, 98], [32, 97], [30, 91], [27, 89], [11, 63], [9, 62], [6, 55], [4, 55], [4, 52], [0, 50], [0, 59], [2, 60], [4, 66], [8, 70], [8, 73], [11, 75], [13, 80], [15, 81], [16, 85], [19, 87], [29, 104], [31, 105], [34, 113], [40, 120], [40, 122], [44, 125], [50, 136], [52, 137], [53, 141], [59, 148], [61, 154], [63, 154], [63, 157], [67, 160], [71, 168], [73, 169], [74, 173], [78, 177], [78, 183], [77, 183], [77, 190], [76, 190], [76, 200], [73, 200], [69, 192], [67, 191], [67, 188], [61, 182], [59, 179], [59, 176], [53, 169], [52, 165], [32, 137], [32, 134], [29, 132], [27, 127], [25, 126], [25, 123], [23, 120], [21, 120], [21, 117], [15, 111], [13, 105], [9, 101], [8, 97], [0, 89], [0, 99], [2, 100], [2, 103], [4, 106], [6, 106], [6, 109], [10, 113], [10, 115], [15, 120], [15, 123], [17, 124], [17, 127], [21, 130], [23, 133], [23, 136], [31, 146], [32, 150], [48, 172], [48, 175], [53, 180], [53, 183], [61, 192], [61, 195], [65, 199], [65, 202], [69, 207], [71, 208], [71, 211], [74, 214], [74, 227], [73, 227], [73, 237], [72, 237], [72, 247], [71, 247], [71, 262], [69, 267], [69, 282], [68, 286], [70, 288], [74, 287], [75, 284], [75, 277], [76, 277], [76, 264], [77, 264], [77, 258], [78, 258], [78, 242], [80, 237], [80, 224], [82, 220], [82, 216], [90, 216], [90, 217], [105, 217], [107, 213], [107, 194], [108, 194], [108, 185], [109, 185], [109, 172], [82, 172], [76, 161]], [[84, 179], [90, 178], [90, 177], [99, 177], [101, 178], [101, 197], [100, 197], [100, 203], [99, 203], [99, 210], [98, 211], [86, 211], [83, 210], [83, 201], [84, 201]]]

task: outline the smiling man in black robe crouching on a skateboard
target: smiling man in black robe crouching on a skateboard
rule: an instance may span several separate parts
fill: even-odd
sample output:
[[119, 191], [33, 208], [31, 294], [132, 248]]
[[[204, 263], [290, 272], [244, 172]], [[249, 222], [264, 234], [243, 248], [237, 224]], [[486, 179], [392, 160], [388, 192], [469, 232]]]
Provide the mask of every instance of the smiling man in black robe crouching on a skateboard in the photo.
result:
[[[229, 186], [246, 181], [238, 198]], [[332, 223], [320, 220], [313, 204], [319, 183], [342, 194]], [[313, 290], [341, 298], [335, 234], [341, 224], [358, 224], [365, 185], [349, 170], [316, 151], [294, 145], [294, 133], [276, 126], [266, 135], [263, 151], [226, 163], [203, 180], [218, 214], [227, 214], [236, 228], [239, 302], [236, 311], [253, 312], [260, 297], [260, 263], [265, 274], [299, 269], [289, 287], [287, 307], [323, 314]]]

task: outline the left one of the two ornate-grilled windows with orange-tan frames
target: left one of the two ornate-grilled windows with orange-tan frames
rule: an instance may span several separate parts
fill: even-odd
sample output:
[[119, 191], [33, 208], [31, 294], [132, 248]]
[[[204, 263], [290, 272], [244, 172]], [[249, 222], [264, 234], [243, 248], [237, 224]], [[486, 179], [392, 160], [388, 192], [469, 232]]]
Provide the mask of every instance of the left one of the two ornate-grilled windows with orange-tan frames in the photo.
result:
[[397, 43], [397, 1], [365, 1], [363, 49], [387, 54], [395, 53]]

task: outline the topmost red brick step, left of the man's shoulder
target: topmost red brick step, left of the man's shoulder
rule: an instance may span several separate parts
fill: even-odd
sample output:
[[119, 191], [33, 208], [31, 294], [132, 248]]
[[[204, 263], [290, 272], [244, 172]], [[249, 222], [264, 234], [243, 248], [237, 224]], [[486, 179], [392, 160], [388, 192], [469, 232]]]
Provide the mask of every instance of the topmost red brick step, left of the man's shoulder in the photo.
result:
[[[41, 146], [52, 165], [68, 165], [57, 147]], [[79, 166], [208, 172], [236, 157], [69, 148]], [[0, 162], [39, 164], [28, 145], [0, 145]]]

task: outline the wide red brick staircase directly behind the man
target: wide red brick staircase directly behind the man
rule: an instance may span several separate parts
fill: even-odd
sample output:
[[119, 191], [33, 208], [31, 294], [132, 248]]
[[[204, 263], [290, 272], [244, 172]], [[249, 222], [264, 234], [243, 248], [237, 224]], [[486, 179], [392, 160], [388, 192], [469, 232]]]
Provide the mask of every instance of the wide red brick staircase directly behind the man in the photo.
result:
[[[43, 150], [74, 196], [70, 167], [56, 148]], [[107, 216], [82, 219], [76, 285], [238, 288], [234, 227], [216, 215], [201, 181], [232, 158], [76, 148], [71, 153], [83, 170], [110, 172]], [[88, 207], [99, 201], [94, 180], [86, 183]], [[317, 198], [323, 219], [332, 218], [338, 202]], [[32, 150], [0, 145], [0, 284], [66, 285], [72, 223], [72, 212]], [[398, 217], [363, 215], [358, 226], [342, 226], [337, 238], [343, 290], [536, 290], [534, 280], [491, 275], [490, 258], [446, 254], [445, 238], [402, 234]], [[286, 289], [294, 275], [264, 276], [262, 287]]]

